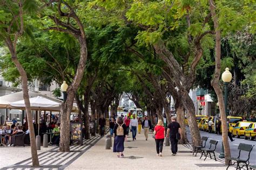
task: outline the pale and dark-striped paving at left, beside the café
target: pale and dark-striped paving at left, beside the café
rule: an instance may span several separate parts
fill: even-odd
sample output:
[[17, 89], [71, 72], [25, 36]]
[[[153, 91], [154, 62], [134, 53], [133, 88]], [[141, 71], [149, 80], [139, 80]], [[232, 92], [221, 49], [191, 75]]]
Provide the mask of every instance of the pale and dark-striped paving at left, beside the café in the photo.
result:
[[[99, 139], [99, 135], [92, 136], [91, 139], [84, 139], [82, 146], [70, 146], [70, 152], [58, 152], [59, 147], [50, 146], [43, 148], [41, 146], [41, 149], [45, 152], [38, 151], [38, 159], [41, 167], [35, 169], [64, 169], [95, 145]], [[29, 147], [4, 147], [1, 149], [4, 149], [3, 152], [5, 152], [5, 155], [0, 155], [0, 169], [33, 169], [31, 168], [32, 159]], [[13, 152], [10, 153], [10, 150]]]

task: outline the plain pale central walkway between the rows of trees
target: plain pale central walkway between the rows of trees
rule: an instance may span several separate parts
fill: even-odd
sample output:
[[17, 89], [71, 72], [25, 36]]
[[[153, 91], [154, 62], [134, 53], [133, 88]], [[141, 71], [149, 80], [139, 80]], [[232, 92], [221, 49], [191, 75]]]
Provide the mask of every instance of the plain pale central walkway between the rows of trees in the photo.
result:
[[132, 141], [130, 134], [125, 142], [125, 158], [117, 158], [112, 147], [105, 150], [105, 138], [102, 138], [65, 169], [226, 169], [223, 162], [194, 157], [188, 145], [179, 145], [176, 156], [171, 155], [170, 146], [164, 146], [163, 157], [159, 157], [152, 135], [146, 141], [143, 133], [137, 134], [137, 140]]

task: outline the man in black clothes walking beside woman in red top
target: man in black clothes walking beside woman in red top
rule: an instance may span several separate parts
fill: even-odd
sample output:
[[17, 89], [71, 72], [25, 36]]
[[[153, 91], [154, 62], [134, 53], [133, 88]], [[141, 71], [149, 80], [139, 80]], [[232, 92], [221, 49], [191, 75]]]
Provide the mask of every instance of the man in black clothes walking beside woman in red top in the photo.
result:
[[167, 137], [169, 137], [171, 141], [171, 150], [173, 156], [175, 156], [178, 151], [177, 133], [181, 134], [181, 128], [179, 123], [176, 122], [176, 117], [173, 116], [171, 118], [171, 123], [168, 125], [167, 129]]

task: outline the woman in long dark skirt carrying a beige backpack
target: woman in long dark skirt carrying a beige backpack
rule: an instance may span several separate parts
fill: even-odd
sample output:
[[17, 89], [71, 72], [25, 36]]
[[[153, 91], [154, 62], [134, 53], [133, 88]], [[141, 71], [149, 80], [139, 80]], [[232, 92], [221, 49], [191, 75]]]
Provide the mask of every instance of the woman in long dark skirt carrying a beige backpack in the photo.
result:
[[[117, 123], [114, 125], [114, 146], [113, 152], [118, 152], [117, 157], [124, 157], [124, 140], [126, 140], [126, 125], [122, 117], [118, 117]], [[121, 155], [120, 155], [121, 152]]]

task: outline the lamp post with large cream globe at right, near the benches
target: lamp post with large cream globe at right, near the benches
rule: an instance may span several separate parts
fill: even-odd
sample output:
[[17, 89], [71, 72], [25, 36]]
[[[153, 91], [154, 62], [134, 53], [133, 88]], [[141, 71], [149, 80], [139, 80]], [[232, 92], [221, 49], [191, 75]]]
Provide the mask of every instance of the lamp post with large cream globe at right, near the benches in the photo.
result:
[[[221, 79], [224, 82], [224, 105], [225, 105], [225, 114], [227, 116], [227, 93], [228, 93], [227, 85], [232, 80], [232, 74], [230, 73], [230, 69], [228, 68], [225, 69], [225, 72], [223, 72], [223, 74], [221, 75]], [[225, 158], [223, 142], [222, 142], [219, 158]]]

